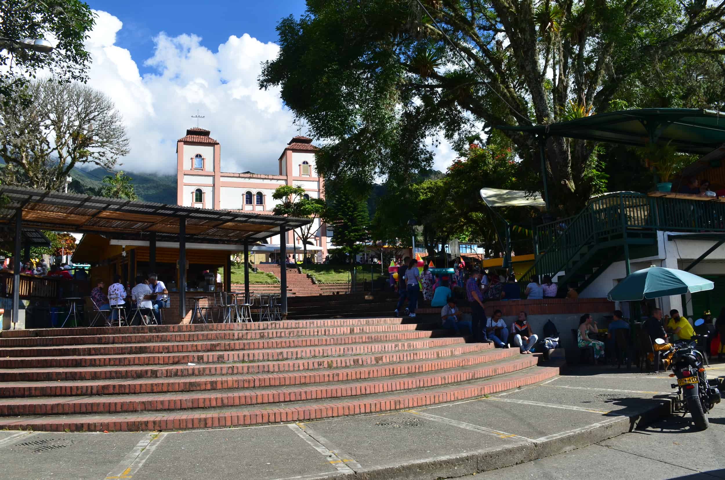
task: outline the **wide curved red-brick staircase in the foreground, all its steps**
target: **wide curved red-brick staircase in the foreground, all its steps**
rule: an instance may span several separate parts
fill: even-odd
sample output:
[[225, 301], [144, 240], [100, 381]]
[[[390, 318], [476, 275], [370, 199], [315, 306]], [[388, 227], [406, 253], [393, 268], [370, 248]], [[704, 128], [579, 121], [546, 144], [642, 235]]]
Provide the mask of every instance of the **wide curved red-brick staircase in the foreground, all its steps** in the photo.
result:
[[4, 331], [0, 429], [136, 431], [384, 412], [551, 378], [560, 363], [399, 318]]

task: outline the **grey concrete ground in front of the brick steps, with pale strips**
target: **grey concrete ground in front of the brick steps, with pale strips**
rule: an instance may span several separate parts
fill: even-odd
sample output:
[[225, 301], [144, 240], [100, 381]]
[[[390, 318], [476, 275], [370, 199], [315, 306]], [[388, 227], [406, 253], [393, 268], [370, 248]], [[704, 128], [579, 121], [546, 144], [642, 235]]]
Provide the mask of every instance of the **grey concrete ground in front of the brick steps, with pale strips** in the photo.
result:
[[[725, 375], [725, 365], [711, 375]], [[7, 480], [432, 480], [481, 478], [495, 468], [502, 469], [484, 478], [582, 478], [591, 471], [599, 479], [670, 479], [725, 468], [725, 406], [713, 411], [711, 429], [692, 432], [687, 419], [667, 414], [670, 384], [666, 373], [584, 367], [476, 400], [326, 421], [111, 434], [0, 431], [0, 458]], [[639, 421], [655, 423], [620, 435]]]

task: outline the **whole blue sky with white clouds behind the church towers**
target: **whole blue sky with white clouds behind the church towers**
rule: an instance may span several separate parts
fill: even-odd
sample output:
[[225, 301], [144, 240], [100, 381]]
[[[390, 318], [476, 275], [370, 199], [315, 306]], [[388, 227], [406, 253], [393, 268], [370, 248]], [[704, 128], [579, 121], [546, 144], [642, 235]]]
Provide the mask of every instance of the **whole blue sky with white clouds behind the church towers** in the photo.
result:
[[[123, 115], [123, 170], [175, 173], [176, 141], [196, 125], [197, 110], [221, 144], [225, 172], [278, 173], [287, 142], [312, 136], [279, 88], [257, 83], [263, 62], [279, 53], [279, 20], [302, 15], [305, 0], [86, 1], [98, 12], [86, 40], [88, 85]], [[455, 154], [446, 142], [434, 150], [444, 170]]]

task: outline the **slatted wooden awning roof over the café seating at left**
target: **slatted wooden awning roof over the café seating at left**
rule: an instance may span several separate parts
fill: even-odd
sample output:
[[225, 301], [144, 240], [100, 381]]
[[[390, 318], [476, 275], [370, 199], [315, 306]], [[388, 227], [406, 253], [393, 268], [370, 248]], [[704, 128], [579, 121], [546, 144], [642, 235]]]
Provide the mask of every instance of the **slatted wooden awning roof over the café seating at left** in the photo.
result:
[[9, 198], [0, 208], [0, 226], [14, 224], [17, 210], [22, 210], [23, 228], [100, 233], [109, 239], [144, 240], [154, 232], [159, 241], [178, 241], [179, 220], [185, 218], [187, 239], [242, 244], [245, 240], [253, 243], [268, 239], [279, 233], [282, 225], [287, 229], [299, 228], [312, 221], [15, 186], [0, 186], [0, 196]]

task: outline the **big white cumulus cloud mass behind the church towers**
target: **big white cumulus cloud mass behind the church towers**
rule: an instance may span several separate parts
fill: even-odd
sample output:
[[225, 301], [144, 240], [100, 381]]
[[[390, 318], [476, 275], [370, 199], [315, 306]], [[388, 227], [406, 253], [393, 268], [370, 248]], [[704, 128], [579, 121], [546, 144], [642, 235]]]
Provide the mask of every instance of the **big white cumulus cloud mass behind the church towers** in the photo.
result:
[[[159, 33], [153, 56], [133, 59], [115, 45], [123, 22], [107, 12], [96, 15], [86, 42], [93, 57], [88, 84], [123, 113], [131, 147], [123, 169], [174, 173], [176, 141], [196, 125], [191, 115], [198, 109], [205, 116], [200, 126], [221, 144], [223, 171], [277, 173], [276, 160], [297, 129], [279, 91], [260, 90], [257, 76], [261, 62], [277, 56], [278, 45], [244, 33], [212, 51], [194, 33]], [[138, 61], [152, 73], [141, 75]]]

